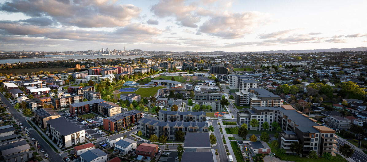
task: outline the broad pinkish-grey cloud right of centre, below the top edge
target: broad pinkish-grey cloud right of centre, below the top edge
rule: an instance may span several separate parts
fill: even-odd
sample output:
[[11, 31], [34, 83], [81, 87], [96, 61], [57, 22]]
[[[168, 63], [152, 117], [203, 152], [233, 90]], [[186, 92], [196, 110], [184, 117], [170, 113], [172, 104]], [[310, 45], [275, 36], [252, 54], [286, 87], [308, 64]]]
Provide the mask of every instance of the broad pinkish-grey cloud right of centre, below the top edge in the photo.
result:
[[261, 25], [269, 22], [269, 15], [261, 12], [242, 12], [212, 15], [209, 20], [199, 27], [198, 34], [206, 33], [225, 39], [243, 38], [245, 34], [253, 33]]

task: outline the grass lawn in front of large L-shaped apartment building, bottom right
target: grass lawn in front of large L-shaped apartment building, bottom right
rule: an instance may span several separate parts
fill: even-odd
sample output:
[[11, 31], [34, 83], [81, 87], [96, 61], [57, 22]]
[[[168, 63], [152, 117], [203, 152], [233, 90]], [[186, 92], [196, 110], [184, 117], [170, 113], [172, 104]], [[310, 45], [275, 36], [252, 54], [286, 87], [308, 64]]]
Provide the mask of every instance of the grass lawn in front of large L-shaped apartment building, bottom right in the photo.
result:
[[[279, 147], [275, 148], [271, 144], [269, 144], [269, 147], [270, 147], [270, 149], [272, 149], [272, 153], [277, 154], [277, 150], [279, 150]], [[297, 158], [296, 158], [296, 155], [284, 155], [283, 157], [280, 157], [280, 159], [283, 160], [283, 161], [297, 161], [297, 162], [310, 162], [310, 161], [312, 161], [312, 159], [307, 158], [307, 157], [297, 156]], [[313, 161], [314, 162], [346, 162], [346, 159], [344, 159], [342, 156], [337, 154], [337, 156], [333, 157], [331, 160], [327, 160], [325, 158], [320, 157], [320, 158], [317, 158]]]

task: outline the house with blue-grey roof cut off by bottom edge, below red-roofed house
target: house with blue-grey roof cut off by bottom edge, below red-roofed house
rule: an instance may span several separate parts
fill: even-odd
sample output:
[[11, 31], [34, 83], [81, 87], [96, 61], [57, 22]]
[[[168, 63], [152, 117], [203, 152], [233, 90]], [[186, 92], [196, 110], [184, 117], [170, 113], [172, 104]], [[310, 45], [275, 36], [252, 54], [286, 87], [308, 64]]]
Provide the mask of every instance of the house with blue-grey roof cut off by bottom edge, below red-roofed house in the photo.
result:
[[108, 157], [107, 157], [106, 152], [103, 152], [102, 150], [99, 150], [97, 148], [97, 149], [89, 150], [81, 154], [80, 161], [81, 162], [106, 162], [108, 161]]

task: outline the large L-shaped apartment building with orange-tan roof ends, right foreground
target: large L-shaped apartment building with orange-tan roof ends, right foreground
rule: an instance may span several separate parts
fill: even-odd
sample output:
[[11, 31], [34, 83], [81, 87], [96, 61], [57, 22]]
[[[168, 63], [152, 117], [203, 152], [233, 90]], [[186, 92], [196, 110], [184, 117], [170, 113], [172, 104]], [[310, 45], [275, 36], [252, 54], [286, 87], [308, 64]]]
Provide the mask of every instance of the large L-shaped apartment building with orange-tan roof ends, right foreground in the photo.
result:
[[[249, 125], [252, 119], [259, 121], [259, 127], [252, 128]], [[284, 148], [287, 154], [294, 154], [290, 151], [290, 145], [299, 142], [304, 145], [302, 156], [306, 156], [309, 151], [316, 151], [318, 155], [329, 152], [335, 156], [337, 152], [335, 145], [337, 136], [335, 131], [316, 123], [316, 120], [309, 118], [306, 114], [295, 110], [290, 105], [280, 107], [255, 106], [252, 109], [244, 109], [244, 112], [237, 113], [237, 125], [247, 124], [248, 129], [263, 130], [262, 124], [268, 122], [270, 130], [271, 123], [278, 122], [282, 132], [279, 135], [280, 148]]]

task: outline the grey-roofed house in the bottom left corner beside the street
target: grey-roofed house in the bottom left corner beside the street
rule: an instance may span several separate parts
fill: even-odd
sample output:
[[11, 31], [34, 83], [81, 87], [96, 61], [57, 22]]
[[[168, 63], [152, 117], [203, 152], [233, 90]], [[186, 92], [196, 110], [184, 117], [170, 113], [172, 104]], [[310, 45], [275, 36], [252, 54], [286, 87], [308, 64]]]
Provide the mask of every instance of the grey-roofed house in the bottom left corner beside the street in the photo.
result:
[[33, 152], [25, 140], [0, 146], [1, 155], [5, 162], [28, 161], [33, 158]]

